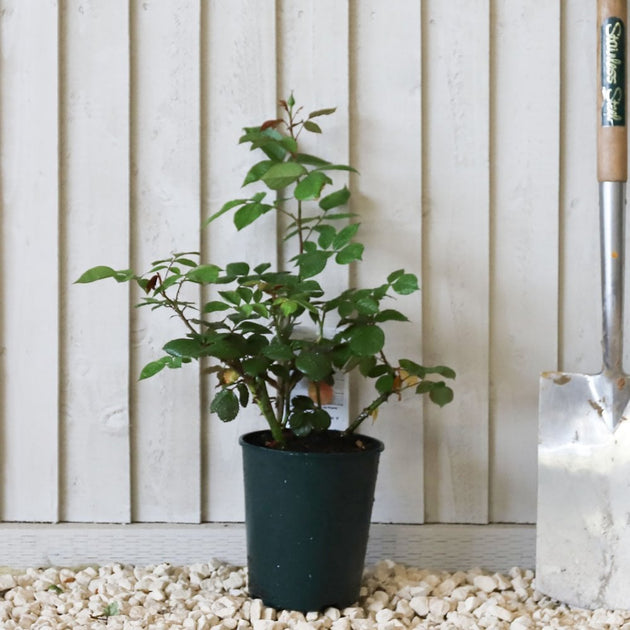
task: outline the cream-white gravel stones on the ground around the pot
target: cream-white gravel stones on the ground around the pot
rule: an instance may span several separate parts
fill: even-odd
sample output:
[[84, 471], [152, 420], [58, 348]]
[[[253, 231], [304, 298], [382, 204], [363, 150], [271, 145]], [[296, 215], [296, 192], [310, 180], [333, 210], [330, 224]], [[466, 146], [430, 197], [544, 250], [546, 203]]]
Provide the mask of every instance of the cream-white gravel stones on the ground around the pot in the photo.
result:
[[356, 606], [274, 610], [246, 591], [247, 572], [218, 561], [176, 567], [111, 564], [0, 574], [0, 628], [161, 630], [630, 630], [630, 612], [585, 611], [534, 588], [530, 570], [436, 572], [383, 561]]

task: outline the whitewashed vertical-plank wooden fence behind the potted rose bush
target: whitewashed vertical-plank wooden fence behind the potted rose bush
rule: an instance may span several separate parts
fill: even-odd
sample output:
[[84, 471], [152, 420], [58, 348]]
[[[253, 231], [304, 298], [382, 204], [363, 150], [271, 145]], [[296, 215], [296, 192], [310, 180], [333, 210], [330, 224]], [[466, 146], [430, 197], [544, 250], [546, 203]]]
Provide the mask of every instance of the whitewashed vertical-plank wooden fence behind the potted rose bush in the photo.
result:
[[255, 415], [209, 417], [196, 367], [138, 383], [174, 323], [72, 282], [176, 250], [275, 257], [273, 217], [199, 226], [238, 194], [241, 127], [294, 90], [338, 107], [314, 149], [361, 172], [352, 278], [422, 279], [392, 352], [458, 372], [452, 405], [366, 427], [374, 519], [533, 522], [538, 375], [600, 365], [594, 5], [0, 0], [0, 520], [242, 518]]

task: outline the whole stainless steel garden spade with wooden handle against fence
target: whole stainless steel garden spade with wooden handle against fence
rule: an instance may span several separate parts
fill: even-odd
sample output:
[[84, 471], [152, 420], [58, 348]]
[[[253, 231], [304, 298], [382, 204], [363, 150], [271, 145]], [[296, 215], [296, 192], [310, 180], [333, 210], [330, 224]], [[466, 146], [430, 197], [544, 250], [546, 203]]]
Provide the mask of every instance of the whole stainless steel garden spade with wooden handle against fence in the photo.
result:
[[583, 608], [630, 609], [630, 382], [622, 367], [626, 2], [598, 2], [603, 367], [540, 379], [536, 587]]

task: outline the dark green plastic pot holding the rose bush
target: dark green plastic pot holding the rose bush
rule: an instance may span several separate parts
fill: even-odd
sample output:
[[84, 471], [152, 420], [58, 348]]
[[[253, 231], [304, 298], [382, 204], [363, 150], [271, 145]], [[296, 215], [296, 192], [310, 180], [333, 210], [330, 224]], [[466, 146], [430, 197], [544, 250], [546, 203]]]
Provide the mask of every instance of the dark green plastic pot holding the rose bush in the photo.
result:
[[352, 605], [382, 442], [357, 435], [365, 450], [302, 453], [261, 446], [265, 435], [240, 438], [250, 596], [300, 611]]

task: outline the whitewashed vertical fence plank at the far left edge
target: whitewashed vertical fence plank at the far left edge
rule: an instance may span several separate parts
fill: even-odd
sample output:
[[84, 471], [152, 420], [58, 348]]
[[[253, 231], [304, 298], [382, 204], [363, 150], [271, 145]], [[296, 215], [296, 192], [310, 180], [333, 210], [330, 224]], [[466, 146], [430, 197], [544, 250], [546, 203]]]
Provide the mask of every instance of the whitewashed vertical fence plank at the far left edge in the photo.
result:
[[57, 3], [1, 7], [2, 519], [58, 519]]

